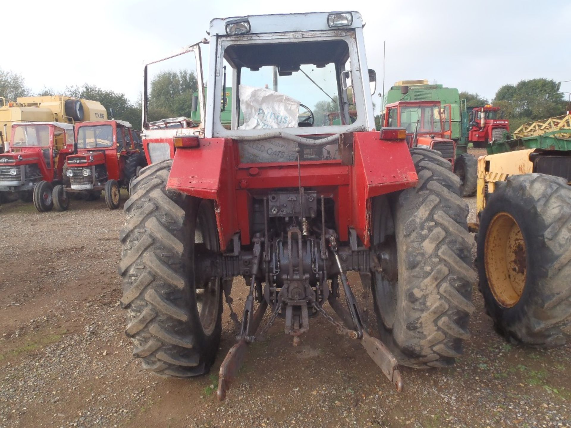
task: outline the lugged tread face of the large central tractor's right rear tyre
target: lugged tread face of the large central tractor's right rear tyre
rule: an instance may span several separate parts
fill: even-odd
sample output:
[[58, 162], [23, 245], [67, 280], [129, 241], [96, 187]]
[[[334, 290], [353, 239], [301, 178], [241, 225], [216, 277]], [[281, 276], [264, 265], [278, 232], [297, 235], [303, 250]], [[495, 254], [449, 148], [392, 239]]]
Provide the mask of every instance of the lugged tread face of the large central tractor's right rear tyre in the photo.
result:
[[401, 272], [405, 278], [399, 285], [401, 316], [389, 349], [406, 366], [444, 367], [455, 362], [469, 337], [472, 285], [477, 281], [474, 241], [459, 178], [434, 151], [413, 148], [411, 155], [422, 180], [401, 192], [396, 202], [396, 238], [404, 243], [398, 257], [405, 260], [399, 282]]

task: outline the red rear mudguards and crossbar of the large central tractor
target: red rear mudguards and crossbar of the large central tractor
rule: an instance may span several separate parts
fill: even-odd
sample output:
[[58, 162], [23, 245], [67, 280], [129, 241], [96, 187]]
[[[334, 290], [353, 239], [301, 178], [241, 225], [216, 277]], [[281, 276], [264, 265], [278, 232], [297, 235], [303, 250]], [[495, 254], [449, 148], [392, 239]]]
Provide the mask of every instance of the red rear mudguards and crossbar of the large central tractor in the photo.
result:
[[[216, 201], [220, 247], [224, 250], [236, 232], [250, 243], [251, 198], [268, 191], [299, 185], [296, 162], [240, 164], [238, 142], [201, 139], [199, 148], [179, 148], [174, 154], [167, 188]], [[304, 161], [301, 185], [335, 201], [340, 241], [349, 227], [369, 245], [371, 197], [413, 187], [418, 181], [404, 141], [380, 140], [379, 132], [353, 134], [354, 165], [340, 160]]]

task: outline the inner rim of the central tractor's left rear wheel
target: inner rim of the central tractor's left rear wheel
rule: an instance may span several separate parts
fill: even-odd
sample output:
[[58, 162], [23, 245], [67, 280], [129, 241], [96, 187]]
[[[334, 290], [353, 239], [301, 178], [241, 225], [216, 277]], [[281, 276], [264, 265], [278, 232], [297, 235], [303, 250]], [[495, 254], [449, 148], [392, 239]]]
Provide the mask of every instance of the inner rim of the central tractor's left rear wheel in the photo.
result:
[[[212, 224], [211, 216], [208, 211], [208, 204], [202, 203], [199, 206], [196, 215], [196, 228], [194, 234], [194, 243], [204, 244], [204, 246], [212, 251], [218, 251], [218, 232], [216, 231], [216, 223]], [[196, 256], [196, 254], [195, 254]], [[218, 320], [219, 300], [220, 300], [220, 278], [211, 278], [202, 288], [196, 288], [196, 309], [200, 318], [200, 324], [204, 334], [210, 336], [216, 328]]]

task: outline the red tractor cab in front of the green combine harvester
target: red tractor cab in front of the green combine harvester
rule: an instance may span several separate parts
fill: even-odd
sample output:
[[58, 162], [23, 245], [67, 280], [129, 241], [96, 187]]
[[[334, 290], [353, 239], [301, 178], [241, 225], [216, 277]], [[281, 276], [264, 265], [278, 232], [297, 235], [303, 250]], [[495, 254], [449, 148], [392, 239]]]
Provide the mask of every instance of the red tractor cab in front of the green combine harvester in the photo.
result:
[[437, 150], [453, 168], [456, 142], [451, 125], [450, 104], [441, 106], [440, 101], [399, 101], [385, 107], [384, 127], [405, 128], [409, 147]]

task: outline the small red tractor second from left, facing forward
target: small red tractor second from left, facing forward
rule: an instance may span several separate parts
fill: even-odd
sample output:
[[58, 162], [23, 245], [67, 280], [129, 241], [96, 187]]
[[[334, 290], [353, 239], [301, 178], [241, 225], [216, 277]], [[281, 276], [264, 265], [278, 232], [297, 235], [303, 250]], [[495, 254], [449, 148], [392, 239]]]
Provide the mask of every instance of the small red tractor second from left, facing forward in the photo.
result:
[[128, 188], [140, 168], [147, 164], [144, 154], [136, 148], [137, 131], [121, 120], [83, 122], [75, 125], [77, 154], [67, 158], [66, 176], [69, 185], [56, 187], [56, 209], [69, 207], [69, 193], [79, 193], [95, 200], [103, 191], [109, 209], [119, 208], [120, 188]]

